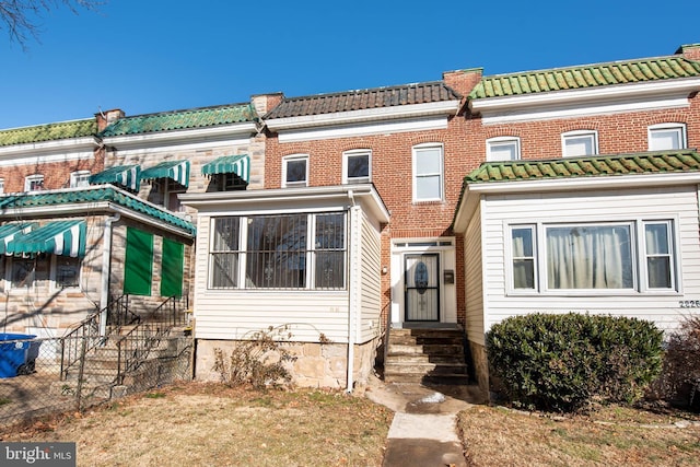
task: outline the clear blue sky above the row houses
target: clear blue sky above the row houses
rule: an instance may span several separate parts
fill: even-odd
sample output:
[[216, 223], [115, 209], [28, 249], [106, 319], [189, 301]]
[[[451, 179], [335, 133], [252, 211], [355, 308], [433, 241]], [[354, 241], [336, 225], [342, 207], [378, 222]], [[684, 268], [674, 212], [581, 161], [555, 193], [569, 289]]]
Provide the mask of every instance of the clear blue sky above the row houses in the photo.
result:
[[107, 0], [0, 31], [0, 129], [673, 54], [697, 0]]

